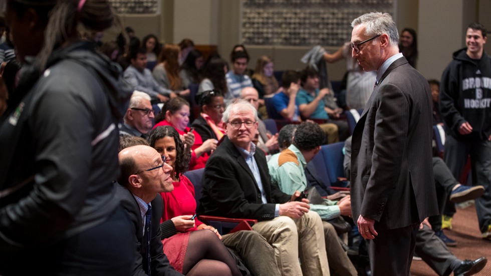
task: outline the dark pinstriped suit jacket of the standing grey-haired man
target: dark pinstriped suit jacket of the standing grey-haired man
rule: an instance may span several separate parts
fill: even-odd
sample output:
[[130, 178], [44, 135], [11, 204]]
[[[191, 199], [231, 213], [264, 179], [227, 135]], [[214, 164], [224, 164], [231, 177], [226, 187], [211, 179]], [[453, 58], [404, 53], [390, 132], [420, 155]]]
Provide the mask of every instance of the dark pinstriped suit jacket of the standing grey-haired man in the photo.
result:
[[438, 214], [431, 161], [431, 92], [406, 59], [374, 89], [352, 138], [351, 205], [387, 229]]

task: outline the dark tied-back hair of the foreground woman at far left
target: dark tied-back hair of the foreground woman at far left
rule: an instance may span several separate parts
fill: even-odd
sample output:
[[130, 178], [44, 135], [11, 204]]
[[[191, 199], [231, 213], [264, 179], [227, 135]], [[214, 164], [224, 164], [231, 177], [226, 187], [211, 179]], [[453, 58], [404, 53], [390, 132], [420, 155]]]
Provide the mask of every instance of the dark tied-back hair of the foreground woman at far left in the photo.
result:
[[36, 58], [36, 65], [42, 71], [51, 53], [65, 42], [79, 37], [77, 25], [81, 23], [88, 31], [104, 31], [116, 25], [122, 31], [120, 18], [107, 0], [87, 0], [79, 9], [78, 0], [9, 0], [8, 7], [24, 15], [34, 9], [40, 23], [46, 25], [44, 45]]

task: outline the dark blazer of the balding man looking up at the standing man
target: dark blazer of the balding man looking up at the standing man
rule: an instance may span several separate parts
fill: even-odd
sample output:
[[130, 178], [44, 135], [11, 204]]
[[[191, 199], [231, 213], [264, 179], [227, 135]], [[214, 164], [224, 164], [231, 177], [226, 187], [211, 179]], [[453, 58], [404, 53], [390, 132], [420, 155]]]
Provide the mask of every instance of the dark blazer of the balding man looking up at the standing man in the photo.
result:
[[[132, 231], [135, 233], [134, 242], [135, 242], [135, 263], [133, 265], [132, 275], [143, 276], [147, 275], [148, 271], [146, 265], [143, 263], [147, 263], [146, 251], [147, 251], [147, 243], [146, 235], [143, 235], [143, 222], [141, 218], [140, 206], [138, 206], [138, 202], [133, 197], [132, 193], [126, 189], [125, 187], [116, 184], [116, 197], [120, 200], [121, 206], [127, 212], [132, 225]], [[150, 241], [151, 247], [151, 262], [150, 265], [152, 267], [152, 275], [181, 275], [181, 273], [177, 272], [174, 267], [172, 267], [165, 256], [164, 251], [162, 249], [162, 241], [160, 240], [160, 218], [163, 213], [163, 203], [162, 197], [159, 194], [155, 196], [155, 198], [151, 201], [152, 205], [152, 239]]]

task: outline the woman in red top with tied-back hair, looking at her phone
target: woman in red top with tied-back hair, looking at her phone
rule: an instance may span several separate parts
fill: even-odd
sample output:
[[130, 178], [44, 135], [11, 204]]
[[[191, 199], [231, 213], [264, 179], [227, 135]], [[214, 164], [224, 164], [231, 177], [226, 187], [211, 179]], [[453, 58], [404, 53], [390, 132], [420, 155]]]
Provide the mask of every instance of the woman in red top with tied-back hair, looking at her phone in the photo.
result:
[[189, 124], [189, 103], [182, 98], [173, 98], [168, 101], [161, 116], [165, 119], [155, 124], [158, 126], [172, 126], [181, 135], [184, 148], [191, 152], [189, 169], [195, 170], [204, 168], [211, 151], [216, 149], [218, 141], [216, 139], [203, 140], [199, 133], [194, 132], [188, 127]]

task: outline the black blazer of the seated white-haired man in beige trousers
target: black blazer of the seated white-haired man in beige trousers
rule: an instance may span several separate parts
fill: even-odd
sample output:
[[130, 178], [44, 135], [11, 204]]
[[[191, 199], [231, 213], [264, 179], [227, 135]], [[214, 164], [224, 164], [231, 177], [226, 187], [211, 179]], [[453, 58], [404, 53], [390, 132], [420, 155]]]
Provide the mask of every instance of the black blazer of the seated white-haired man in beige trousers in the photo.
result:
[[206, 162], [198, 213], [234, 218], [273, 219], [275, 204], [290, 200], [272, 184], [268, 164], [262, 150], [256, 148], [254, 158], [259, 167], [267, 204], [252, 171], [235, 146], [225, 137]]

